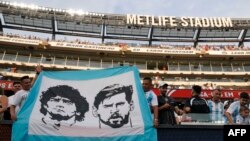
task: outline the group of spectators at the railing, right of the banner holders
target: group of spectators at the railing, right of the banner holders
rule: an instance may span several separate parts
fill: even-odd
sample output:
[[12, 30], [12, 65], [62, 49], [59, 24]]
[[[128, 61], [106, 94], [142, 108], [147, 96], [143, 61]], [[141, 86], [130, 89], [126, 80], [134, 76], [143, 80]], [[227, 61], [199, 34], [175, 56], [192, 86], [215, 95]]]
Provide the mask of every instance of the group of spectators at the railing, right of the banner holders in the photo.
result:
[[168, 96], [168, 84], [159, 86], [158, 112], [160, 124], [178, 124], [181, 122], [210, 122], [220, 124], [250, 125], [250, 98], [246, 92], [239, 99], [221, 99], [221, 89], [212, 90], [211, 99], [201, 97], [202, 87], [192, 86], [192, 97], [180, 108], [173, 98]]

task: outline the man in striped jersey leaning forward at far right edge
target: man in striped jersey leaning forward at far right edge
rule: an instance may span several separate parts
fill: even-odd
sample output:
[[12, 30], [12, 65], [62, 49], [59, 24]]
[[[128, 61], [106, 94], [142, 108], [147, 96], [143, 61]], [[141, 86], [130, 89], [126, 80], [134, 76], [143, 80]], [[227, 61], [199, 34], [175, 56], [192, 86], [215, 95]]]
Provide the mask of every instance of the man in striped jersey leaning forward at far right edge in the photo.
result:
[[239, 115], [241, 106], [249, 107], [249, 94], [246, 92], [240, 93], [240, 99], [233, 102], [225, 112], [229, 124], [236, 123], [236, 117]]

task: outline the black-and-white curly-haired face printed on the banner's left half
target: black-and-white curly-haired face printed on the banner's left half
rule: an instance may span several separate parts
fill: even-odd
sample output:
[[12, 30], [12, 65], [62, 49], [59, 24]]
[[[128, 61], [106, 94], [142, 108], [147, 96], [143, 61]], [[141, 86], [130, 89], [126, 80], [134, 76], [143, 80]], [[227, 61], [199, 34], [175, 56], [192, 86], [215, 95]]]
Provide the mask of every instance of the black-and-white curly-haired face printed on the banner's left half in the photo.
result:
[[61, 126], [72, 126], [83, 121], [89, 110], [86, 98], [77, 89], [67, 85], [49, 87], [40, 97], [42, 122], [59, 130]]

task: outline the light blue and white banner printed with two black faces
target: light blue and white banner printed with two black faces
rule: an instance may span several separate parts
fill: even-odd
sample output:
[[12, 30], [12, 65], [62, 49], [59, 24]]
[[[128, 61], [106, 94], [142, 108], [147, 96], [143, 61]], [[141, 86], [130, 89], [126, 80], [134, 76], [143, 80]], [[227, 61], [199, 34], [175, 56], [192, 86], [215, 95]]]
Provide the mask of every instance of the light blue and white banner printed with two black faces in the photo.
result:
[[157, 141], [135, 67], [42, 72], [13, 125], [13, 141]]

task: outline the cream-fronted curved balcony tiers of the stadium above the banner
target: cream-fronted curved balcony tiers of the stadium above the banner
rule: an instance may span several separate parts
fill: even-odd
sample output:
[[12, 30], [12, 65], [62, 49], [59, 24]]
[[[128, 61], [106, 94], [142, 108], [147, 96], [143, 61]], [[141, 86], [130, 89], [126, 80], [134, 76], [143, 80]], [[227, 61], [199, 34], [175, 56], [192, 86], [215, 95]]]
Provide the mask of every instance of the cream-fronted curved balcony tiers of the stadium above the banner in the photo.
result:
[[[176, 50], [152, 47], [44, 41], [0, 36], [0, 68], [4, 76], [31, 75], [37, 64], [45, 70], [101, 69], [134, 65], [155, 83], [190, 86], [250, 85], [249, 50]], [[210, 85], [210, 84], [209, 84]]]

